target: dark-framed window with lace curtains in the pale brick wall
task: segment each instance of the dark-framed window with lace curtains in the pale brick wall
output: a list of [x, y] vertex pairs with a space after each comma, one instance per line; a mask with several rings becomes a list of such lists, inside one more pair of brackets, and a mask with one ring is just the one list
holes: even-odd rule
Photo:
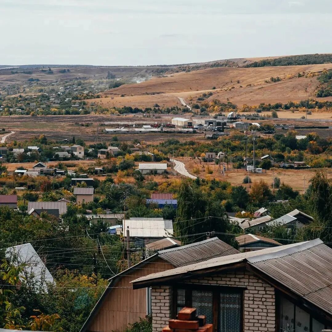
[[174, 290], [175, 315], [184, 306], [197, 309], [218, 332], [242, 331], [242, 294], [244, 288], [187, 285]]

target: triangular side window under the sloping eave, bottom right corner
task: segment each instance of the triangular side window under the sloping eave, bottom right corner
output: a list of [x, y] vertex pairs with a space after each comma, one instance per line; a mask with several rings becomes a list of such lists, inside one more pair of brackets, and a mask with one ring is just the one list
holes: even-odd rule
[[328, 326], [279, 295], [279, 332], [321, 332], [324, 328]]

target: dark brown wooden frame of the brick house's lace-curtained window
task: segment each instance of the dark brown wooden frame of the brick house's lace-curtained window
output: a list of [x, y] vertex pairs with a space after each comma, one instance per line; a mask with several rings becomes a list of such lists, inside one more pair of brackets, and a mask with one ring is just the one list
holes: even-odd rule
[[[177, 304], [177, 290], [185, 290], [185, 304], [179, 306]], [[246, 287], [231, 287], [231, 286], [219, 286], [219, 285], [198, 285], [198, 284], [176, 284], [173, 286], [173, 298], [172, 298], [172, 318], [176, 318], [177, 309], [180, 307], [192, 307], [192, 291], [193, 290], [206, 290], [212, 291], [212, 311], [213, 311], [213, 330], [219, 332], [220, 325], [220, 293], [239, 293], [240, 294], [240, 330], [244, 331], [244, 291]]]

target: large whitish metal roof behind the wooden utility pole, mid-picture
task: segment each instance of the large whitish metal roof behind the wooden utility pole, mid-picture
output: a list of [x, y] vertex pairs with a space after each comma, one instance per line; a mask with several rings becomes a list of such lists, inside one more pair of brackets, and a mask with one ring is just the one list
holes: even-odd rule
[[172, 220], [163, 218], [134, 218], [122, 221], [124, 237], [127, 236], [129, 227], [130, 237], [149, 238], [149, 237], [169, 237], [173, 235]]

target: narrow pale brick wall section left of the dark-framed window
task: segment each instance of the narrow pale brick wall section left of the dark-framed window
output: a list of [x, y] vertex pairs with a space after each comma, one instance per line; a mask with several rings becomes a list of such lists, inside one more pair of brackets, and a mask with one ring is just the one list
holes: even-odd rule
[[152, 331], [161, 331], [171, 318], [172, 295], [168, 286], [152, 288]]

